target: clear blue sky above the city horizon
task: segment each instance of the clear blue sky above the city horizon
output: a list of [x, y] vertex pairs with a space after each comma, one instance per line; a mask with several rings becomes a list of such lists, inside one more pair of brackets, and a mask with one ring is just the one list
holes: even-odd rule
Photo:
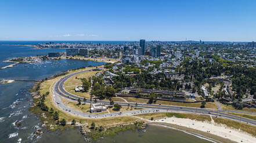
[[0, 0], [0, 40], [256, 41], [255, 0]]

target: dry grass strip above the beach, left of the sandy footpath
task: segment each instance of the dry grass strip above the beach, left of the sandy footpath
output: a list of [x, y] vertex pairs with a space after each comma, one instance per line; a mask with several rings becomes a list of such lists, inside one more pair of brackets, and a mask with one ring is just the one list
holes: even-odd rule
[[154, 112], [154, 113], [140, 114], [135, 116], [139, 116], [144, 119], [151, 119], [152, 117], [154, 119], [161, 119], [165, 117], [175, 116], [176, 118], [188, 118], [188, 119], [193, 119], [197, 121], [209, 121], [209, 122], [211, 121], [211, 117], [209, 115], [177, 113], [177, 112]]

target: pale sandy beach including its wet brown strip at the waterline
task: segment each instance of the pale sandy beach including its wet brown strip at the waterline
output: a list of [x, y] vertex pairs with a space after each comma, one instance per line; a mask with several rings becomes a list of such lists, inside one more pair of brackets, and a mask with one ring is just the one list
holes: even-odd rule
[[192, 134], [199, 134], [203, 137], [212, 138], [217, 142], [251, 142], [256, 138], [245, 131], [240, 131], [226, 125], [210, 122], [194, 121], [185, 118], [164, 118], [158, 121], [151, 121], [149, 125], [168, 126]]

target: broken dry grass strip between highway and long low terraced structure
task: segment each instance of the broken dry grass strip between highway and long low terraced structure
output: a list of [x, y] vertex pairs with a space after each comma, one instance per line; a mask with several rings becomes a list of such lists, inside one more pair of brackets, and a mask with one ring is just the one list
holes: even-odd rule
[[[137, 103], [147, 103], [149, 99], [141, 99], [141, 98], [135, 98], [135, 97], [122, 97], [126, 99], [128, 102], [137, 102]], [[183, 107], [197, 107], [200, 108], [201, 103], [182, 103], [182, 102], [173, 102], [173, 101], [161, 101], [157, 100], [156, 104], [164, 104], [164, 105], [171, 105], [171, 106], [183, 106]], [[205, 108], [212, 108], [217, 109], [218, 105], [215, 102], [207, 102], [205, 104]]]

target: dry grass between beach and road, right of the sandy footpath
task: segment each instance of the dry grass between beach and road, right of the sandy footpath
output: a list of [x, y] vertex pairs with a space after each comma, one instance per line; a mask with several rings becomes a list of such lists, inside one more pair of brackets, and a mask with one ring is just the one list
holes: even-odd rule
[[233, 121], [225, 118], [213, 118], [213, 119], [215, 123], [223, 124], [228, 127], [233, 127], [234, 129], [240, 129], [240, 130], [246, 131], [249, 134], [252, 134], [253, 136], [256, 136], [256, 129], [255, 129], [255, 126], [253, 125], [248, 125], [246, 123], [241, 123], [241, 122], [237, 122], [237, 121]]

